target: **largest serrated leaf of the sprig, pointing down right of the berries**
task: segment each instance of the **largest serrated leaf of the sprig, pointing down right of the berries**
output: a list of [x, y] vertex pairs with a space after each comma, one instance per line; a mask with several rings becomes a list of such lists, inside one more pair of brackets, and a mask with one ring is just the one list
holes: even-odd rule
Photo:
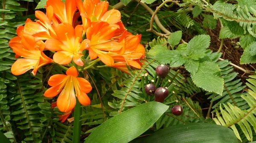
[[198, 71], [191, 75], [195, 85], [206, 91], [222, 95], [224, 79], [220, 77], [221, 71], [218, 64], [214, 62], [202, 62], [199, 64]]

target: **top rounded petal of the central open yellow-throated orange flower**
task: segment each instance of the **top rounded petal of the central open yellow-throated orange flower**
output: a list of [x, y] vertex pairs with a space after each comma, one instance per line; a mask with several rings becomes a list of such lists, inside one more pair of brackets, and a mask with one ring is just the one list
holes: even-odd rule
[[61, 23], [55, 28], [56, 35], [61, 42], [73, 39], [75, 30], [72, 25], [68, 23]]

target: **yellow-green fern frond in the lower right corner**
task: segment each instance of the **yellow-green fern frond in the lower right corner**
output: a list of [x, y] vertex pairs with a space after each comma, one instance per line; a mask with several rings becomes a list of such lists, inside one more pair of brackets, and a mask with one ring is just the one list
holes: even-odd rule
[[[215, 123], [222, 126], [227, 126], [233, 129], [236, 137], [241, 140], [239, 131], [236, 128], [236, 124], [241, 128], [245, 137], [249, 141], [253, 141], [253, 130], [256, 132], [256, 76], [250, 76], [252, 79], [248, 79], [247, 86], [250, 87], [246, 95], [241, 95], [241, 98], [247, 102], [249, 109], [240, 109], [239, 107], [233, 106], [230, 103], [220, 105], [220, 113], [217, 109], [216, 118], [213, 118]], [[224, 106], [225, 110], [222, 108]], [[252, 130], [253, 129], [253, 130]]]

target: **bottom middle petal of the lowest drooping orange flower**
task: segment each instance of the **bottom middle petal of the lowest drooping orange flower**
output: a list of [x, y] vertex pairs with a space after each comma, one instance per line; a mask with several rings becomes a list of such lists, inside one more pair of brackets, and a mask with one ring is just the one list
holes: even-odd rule
[[57, 107], [61, 112], [71, 111], [76, 106], [76, 95], [73, 88], [62, 90], [58, 96]]

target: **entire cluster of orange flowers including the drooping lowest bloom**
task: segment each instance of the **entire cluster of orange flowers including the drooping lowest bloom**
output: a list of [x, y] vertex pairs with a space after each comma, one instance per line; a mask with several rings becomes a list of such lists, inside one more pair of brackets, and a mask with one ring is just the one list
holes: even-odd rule
[[[121, 22], [118, 10], [108, 11], [108, 2], [99, 0], [48, 0], [46, 14], [35, 11], [36, 21], [26, 20], [17, 28], [17, 36], [9, 45], [18, 59], [11, 68], [14, 75], [33, 69], [32, 74], [49, 63], [67, 65], [72, 62], [84, 66], [83, 51], [88, 50], [91, 60], [99, 58], [109, 67], [128, 73], [126, 65], [141, 68], [140, 59], [145, 48], [140, 44], [141, 35], [132, 35]], [[81, 21], [79, 21], [81, 20]], [[54, 53], [50, 59], [44, 50]], [[92, 89], [90, 83], [77, 77], [75, 67], [67, 70], [67, 75], [51, 76], [46, 97], [60, 93], [57, 106], [62, 112], [71, 111], [76, 105], [76, 97], [83, 105], [89, 105], [86, 93]]]

